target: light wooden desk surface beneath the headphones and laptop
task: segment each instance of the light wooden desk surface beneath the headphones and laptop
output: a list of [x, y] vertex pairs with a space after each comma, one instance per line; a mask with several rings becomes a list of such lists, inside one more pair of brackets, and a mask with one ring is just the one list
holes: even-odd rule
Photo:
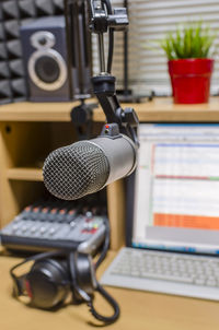
[[[115, 254], [110, 252], [100, 272]], [[0, 256], [0, 329], [2, 330], [88, 330], [99, 325], [88, 307], [67, 306], [56, 313], [26, 307], [11, 297], [9, 269], [19, 261], [14, 257]], [[99, 274], [100, 275], [100, 274]], [[218, 330], [219, 303], [152, 294], [122, 288], [107, 288], [120, 305], [119, 320], [107, 327], [114, 330]], [[96, 307], [104, 308], [96, 297]], [[110, 310], [104, 308], [104, 310]], [[92, 322], [92, 323], [91, 323]]]

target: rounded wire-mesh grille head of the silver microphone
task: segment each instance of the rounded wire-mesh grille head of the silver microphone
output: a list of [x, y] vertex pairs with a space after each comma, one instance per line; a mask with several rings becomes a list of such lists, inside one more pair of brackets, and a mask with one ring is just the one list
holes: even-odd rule
[[110, 164], [101, 148], [79, 141], [51, 152], [44, 163], [43, 175], [51, 195], [74, 200], [104, 187]]

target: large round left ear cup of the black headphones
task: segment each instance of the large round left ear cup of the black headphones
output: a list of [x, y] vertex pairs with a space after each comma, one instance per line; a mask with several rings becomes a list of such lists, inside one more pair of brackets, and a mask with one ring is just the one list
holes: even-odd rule
[[69, 293], [68, 271], [54, 259], [36, 261], [26, 275], [26, 282], [31, 303], [38, 308], [57, 307]]

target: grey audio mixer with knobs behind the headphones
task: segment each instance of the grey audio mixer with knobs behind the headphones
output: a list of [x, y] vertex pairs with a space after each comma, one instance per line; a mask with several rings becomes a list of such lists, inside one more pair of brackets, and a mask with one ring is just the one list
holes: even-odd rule
[[26, 207], [0, 232], [15, 250], [74, 249], [94, 254], [105, 237], [106, 212], [97, 207], [44, 202]]

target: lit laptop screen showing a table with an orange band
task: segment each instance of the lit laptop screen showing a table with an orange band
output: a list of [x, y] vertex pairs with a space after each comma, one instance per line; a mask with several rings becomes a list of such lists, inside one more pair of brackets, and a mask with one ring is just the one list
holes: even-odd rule
[[219, 125], [141, 123], [134, 247], [219, 254]]

